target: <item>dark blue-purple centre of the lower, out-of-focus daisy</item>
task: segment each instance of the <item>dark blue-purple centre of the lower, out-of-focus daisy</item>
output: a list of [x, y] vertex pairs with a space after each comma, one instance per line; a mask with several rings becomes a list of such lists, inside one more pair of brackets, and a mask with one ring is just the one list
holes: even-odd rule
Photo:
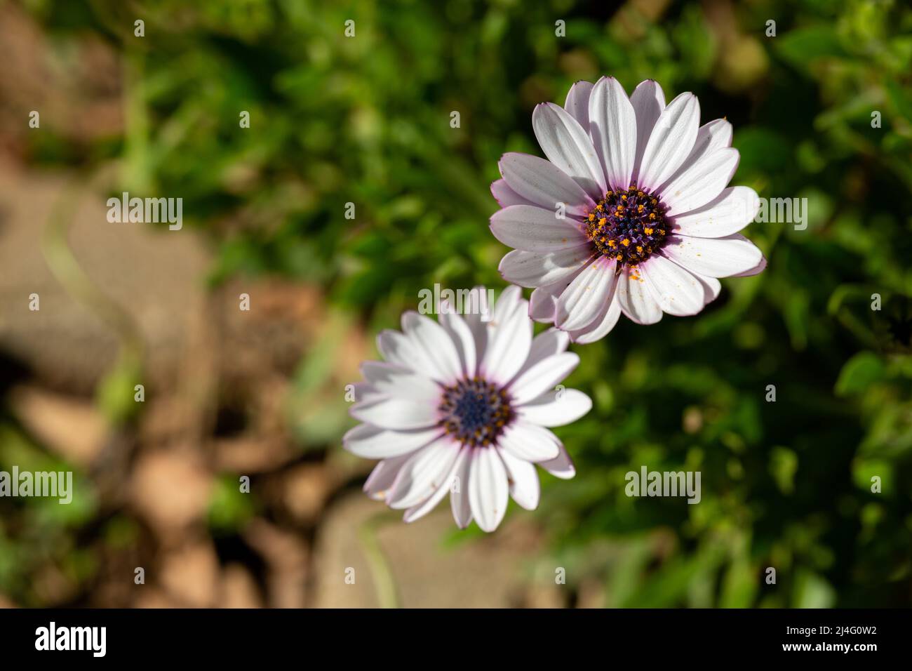
[[463, 445], [491, 445], [513, 419], [506, 390], [481, 378], [461, 380], [443, 388], [440, 425]]

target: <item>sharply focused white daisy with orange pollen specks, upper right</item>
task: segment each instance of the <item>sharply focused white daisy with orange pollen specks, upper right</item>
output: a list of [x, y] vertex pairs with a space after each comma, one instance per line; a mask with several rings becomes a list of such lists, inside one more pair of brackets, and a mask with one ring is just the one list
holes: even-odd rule
[[622, 312], [638, 324], [693, 315], [719, 295], [717, 278], [765, 267], [738, 234], [757, 194], [726, 188], [739, 160], [731, 123], [700, 126], [692, 93], [666, 106], [651, 79], [630, 98], [617, 79], [580, 81], [565, 107], [538, 105], [532, 125], [548, 160], [503, 155], [491, 230], [514, 248], [503, 278], [535, 288], [534, 320], [593, 342]]

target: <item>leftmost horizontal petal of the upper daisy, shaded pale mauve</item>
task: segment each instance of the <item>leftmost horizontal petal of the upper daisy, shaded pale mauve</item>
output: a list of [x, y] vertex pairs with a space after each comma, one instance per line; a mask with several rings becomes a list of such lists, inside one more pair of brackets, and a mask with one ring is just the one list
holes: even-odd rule
[[506, 246], [528, 252], [551, 252], [588, 242], [570, 219], [555, 219], [554, 212], [530, 205], [511, 205], [491, 217], [491, 232]]

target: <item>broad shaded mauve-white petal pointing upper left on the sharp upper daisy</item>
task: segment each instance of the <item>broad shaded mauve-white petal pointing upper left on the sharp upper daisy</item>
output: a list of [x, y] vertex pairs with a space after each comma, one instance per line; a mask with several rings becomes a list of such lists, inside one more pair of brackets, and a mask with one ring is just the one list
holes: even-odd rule
[[[554, 216], [559, 204], [566, 215], [584, 216], [596, 206], [579, 184], [554, 163], [527, 153], [505, 153], [499, 163], [501, 174], [514, 192], [525, 200], [550, 210]], [[556, 217], [555, 217], [556, 218]]]

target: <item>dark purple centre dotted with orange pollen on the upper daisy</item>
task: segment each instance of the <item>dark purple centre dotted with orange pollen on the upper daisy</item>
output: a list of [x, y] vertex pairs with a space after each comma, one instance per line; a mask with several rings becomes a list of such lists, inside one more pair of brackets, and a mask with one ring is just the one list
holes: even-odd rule
[[636, 266], [665, 244], [668, 210], [657, 196], [630, 184], [627, 191], [609, 191], [586, 215], [586, 236], [605, 257]]

